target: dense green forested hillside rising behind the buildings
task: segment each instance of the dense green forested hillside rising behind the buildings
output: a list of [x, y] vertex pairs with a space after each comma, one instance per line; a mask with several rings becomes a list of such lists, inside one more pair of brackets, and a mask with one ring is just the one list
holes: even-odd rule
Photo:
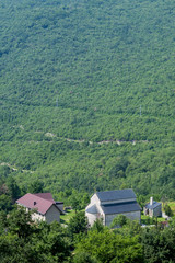
[[0, 176], [175, 198], [175, 2], [0, 2]]

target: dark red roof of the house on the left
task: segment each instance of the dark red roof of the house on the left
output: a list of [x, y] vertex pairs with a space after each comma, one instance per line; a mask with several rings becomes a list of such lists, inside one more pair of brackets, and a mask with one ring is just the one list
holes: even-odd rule
[[[55, 205], [55, 201], [50, 193], [39, 194], [25, 194], [16, 201], [19, 205], [25, 206], [31, 209], [37, 209], [38, 213], [45, 215], [46, 211]], [[57, 207], [58, 208], [58, 207]]]

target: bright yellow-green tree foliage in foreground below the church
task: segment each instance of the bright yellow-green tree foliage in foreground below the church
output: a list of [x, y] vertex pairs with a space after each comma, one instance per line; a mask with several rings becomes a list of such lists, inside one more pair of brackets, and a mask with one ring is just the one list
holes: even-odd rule
[[138, 237], [127, 238], [115, 235], [109, 229], [89, 231], [88, 237], [78, 243], [77, 253], [89, 252], [100, 262], [142, 262], [142, 247]]

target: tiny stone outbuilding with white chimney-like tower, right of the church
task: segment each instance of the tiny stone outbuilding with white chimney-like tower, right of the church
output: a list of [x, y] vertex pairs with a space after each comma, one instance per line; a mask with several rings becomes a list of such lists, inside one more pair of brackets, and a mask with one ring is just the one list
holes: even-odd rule
[[150, 197], [150, 203], [144, 206], [144, 215], [150, 217], [161, 217], [162, 216], [162, 204]]

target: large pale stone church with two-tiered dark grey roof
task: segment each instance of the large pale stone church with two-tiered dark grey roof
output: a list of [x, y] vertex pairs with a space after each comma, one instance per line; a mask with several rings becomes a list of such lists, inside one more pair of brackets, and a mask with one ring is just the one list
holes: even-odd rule
[[131, 188], [115, 190], [95, 193], [85, 208], [85, 215], [90, 226], [97, 218], [102, 218], [103, 225], [109, 226], [118, 215], [125, 215], [129, 219], [140, 222], [141, 208]]

